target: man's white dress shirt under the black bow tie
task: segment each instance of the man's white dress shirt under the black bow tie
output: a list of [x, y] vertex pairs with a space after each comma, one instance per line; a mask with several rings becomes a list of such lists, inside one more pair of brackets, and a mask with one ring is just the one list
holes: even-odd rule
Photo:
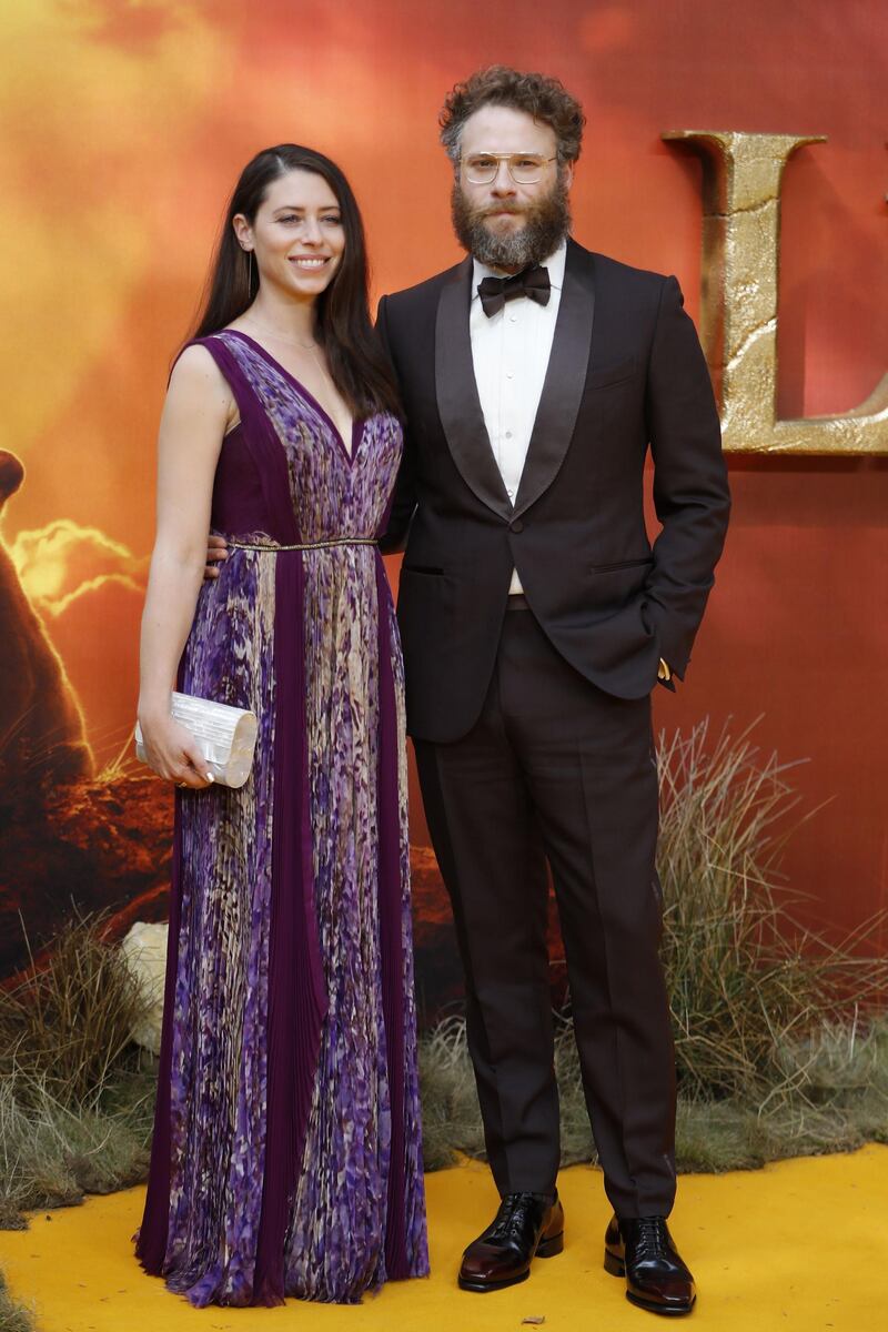
[[[502, 310], [490, 317], [483, 312], [478, 284], [485, 277], [503, 274], [474, 261], [469, 313], [471, 360], [490, 448], [513, 503], [525, 470], [527, 446], [549, 369], [566, 257], [567, 242], [563, 242], [546, 260], [545, 268], [549, 269], [551, 284], [549, 305], [538, 305], [521, 296], [507, 301]], [[511, 571], [509, 591], [522, 591], [515, 569]]]

